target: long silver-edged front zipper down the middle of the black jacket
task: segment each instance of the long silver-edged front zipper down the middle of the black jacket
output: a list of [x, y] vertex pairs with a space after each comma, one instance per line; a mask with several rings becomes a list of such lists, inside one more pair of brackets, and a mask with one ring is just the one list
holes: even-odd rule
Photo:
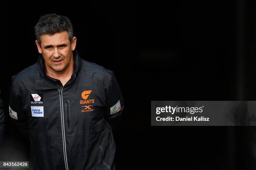
[[61, 109], [61, 131], [62, 131], [64, 162], [65, 162], [66, 170], [69, 170], [69, 167], [67, 164], [67, 150], [66, 150], [65, 125], [64, 125], [64, 113], [63, 113], [63, 98], [62, 98], [63, 88], [59, 88], [58, 90], [59, 90], [59, 101], [60, 101], [60, 109]]

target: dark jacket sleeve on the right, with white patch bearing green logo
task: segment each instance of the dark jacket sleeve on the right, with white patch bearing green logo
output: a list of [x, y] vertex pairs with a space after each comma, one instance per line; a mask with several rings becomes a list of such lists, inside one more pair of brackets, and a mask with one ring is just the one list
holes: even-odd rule
[[115, 78], [115, 74], [111, 71], [111, 81], [107, 92], [107, 114], [105, 120], [111, 128], [115, 128], [120, 120], [123, 112], [124, 101], [123, 95]]

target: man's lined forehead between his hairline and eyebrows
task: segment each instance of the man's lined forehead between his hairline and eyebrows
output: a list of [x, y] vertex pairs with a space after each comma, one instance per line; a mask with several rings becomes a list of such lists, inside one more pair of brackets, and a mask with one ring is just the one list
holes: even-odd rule
[[58, 32], [54, 35], [44, 34], [40, 36], [41, 45], [58, 45], [67, 43], [69, 41], [69, 35], [67, 31]]

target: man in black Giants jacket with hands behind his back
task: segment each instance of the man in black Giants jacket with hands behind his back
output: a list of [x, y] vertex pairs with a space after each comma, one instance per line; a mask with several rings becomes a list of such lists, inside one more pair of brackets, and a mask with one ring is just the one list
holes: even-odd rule
[[114, 170], [123, 96], [112, 71], [82, 60], [65, 16], [35, 26], [38, 62], [13, 76], [10, 116], [31, 142], [35, 170]]

